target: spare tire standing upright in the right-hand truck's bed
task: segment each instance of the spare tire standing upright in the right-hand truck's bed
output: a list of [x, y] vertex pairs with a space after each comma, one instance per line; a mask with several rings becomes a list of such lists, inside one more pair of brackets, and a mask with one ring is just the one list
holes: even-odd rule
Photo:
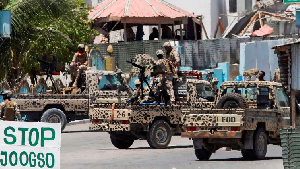
[[220, 98], [217, 103], [217, 109], [228, 109], [228, 108], [248, 108], [247, 100], [237, 93], [227, 93]]

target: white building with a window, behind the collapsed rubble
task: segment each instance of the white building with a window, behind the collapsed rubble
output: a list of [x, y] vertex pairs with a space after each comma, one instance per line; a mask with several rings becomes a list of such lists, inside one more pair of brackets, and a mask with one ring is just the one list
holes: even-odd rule
[[[209, 38], [213, 38], [218, 18], [226, 28], [234, 22], [237, 22], [247, 11], [253, 9], [257, 0], [166, 0], [167, 2], [178, 6], [187, 12], [203, 16], [203, 24]], [[262, 0], [269, 5], [273, 0]], [[219, 29], [220, 30], [220, 29]], [[205, 35], [202, 32], [202, 37]], [[221, 37], [218, 31], [217, 38]]]

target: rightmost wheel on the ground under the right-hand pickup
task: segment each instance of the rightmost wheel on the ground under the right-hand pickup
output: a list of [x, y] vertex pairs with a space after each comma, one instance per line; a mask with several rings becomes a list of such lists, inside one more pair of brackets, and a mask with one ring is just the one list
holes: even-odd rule
[[261, 160], [264, 159], [267, 154], [267, 135], [263, 128], [258, 128], [254, 132], [253, 137], [253, 149], [249, 150], [249, 153], [252, 154], [252, 159]]

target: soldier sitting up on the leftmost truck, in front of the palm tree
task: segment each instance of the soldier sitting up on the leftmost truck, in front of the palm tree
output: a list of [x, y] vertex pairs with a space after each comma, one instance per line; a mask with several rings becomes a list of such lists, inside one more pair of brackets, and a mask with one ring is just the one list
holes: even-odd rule
[[72, 82], [75, 81], [73, 87], [77, 87], [77, 81], [80, 75], [87, 69], [87, 64], [88, 64], [88, 55], [85, 52], [84, 44], [79, 44], [78, 52], [76, 52], [75, 55], [73, 56], [72, 63], [70, 65], [71, 80]]

